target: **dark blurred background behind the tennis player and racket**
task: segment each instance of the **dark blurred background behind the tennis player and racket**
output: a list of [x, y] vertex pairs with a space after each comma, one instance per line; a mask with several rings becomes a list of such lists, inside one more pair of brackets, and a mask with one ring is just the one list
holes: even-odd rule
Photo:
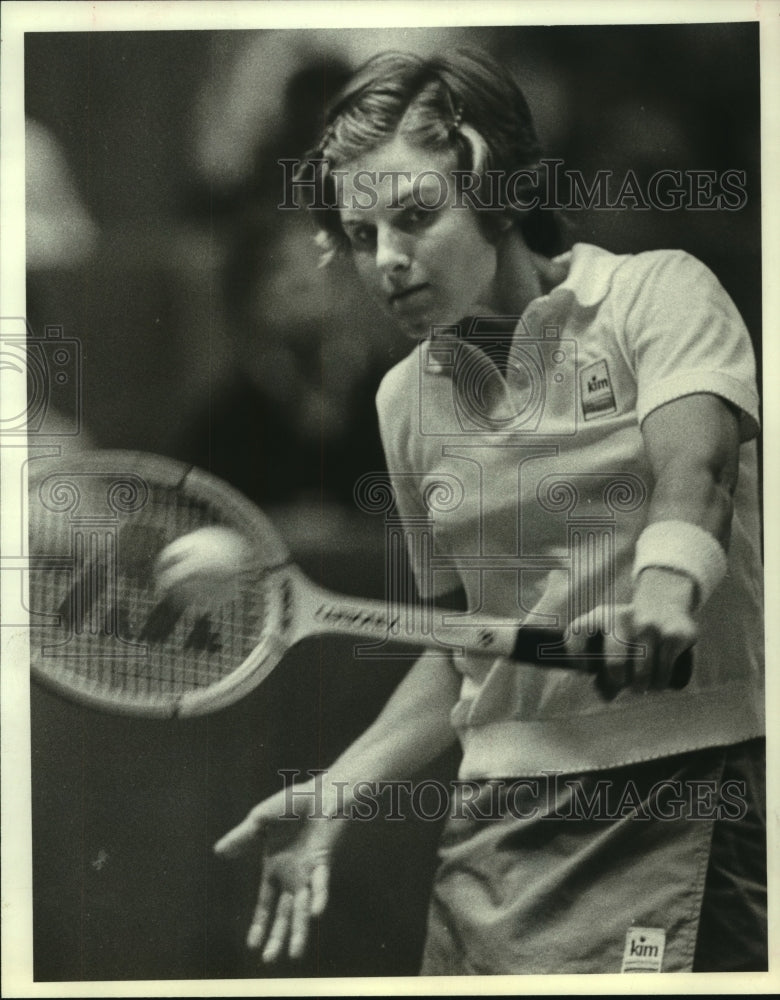
[[[698, 256], [758, 347], [757, 25], [25, 40], [26, 112], [48, 136], [42, 148], [28, 133], [40, 168], [35, 186], [28, 172], [28, 219], [37, 206], [44, 245], [47, 226], [68, 237], [64, 251], [28, 260], [28, 318], [81, 342], [79, 440], [211, 469], [269, 508], [307, 572], [369, 596], [382, 596], [385, 525], [357, 511], [352, 488], [382, 468], [373, 394], [405, 346], [347, 269], [316, 270], [305, 219], [274, 209], [275, 164], [303, 155], [356, 62], [456, 44], [485, 47], [517, 74], [545, 151], [586, 177], [746, 171], [738, 212], [570, 221], [576, 240], [616, 252]], [[89, 238], [68, 225], [77, 202]], [[268, 972], [243, 947], [257, 859], [210, 853], [280, 786], [279, 769], [327, 766], [407, 666], [358, 661], [349, 640], [310, 640], [240, 704], [175, 725], [106, 718], [34, 689], [35, 978], [414, 974], [436, 824], [354, 824], [309, 956]]]

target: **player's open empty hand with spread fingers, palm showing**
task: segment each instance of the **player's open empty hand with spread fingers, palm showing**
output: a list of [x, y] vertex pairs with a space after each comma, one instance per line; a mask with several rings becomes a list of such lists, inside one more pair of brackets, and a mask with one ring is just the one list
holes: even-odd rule
[[226, 858], [262, 848], [260, 891], [247, 946], [260, 950], [264, 962], [285, 952], [300, 958], [306, 950], [311, 921], [328, 903], [331, 856], [343, 827], [338, 819], [307, 816], [315, 801], [314, 782], [296, 786], [295, 801], [297, 817], [285, 811], [284, 791], [271, 796], [214, 846]]

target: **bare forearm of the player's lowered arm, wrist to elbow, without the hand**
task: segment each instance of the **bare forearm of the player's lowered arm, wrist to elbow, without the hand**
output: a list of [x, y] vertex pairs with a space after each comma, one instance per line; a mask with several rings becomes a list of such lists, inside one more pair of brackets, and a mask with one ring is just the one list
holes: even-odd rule
[[328, 769], [325, 811], [348, 806], [358, 782], [409, 778], [455, 742], [450, 711], [459, 690], [449, 657], [422, 656], [377, 720]]

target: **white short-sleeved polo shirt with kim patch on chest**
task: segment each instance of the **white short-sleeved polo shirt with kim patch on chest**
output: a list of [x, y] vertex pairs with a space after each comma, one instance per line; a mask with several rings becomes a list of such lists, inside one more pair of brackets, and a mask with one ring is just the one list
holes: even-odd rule
[[557, 261], [566, 278], [529, 304], [502, 370], [476, 346], [479, 325], [468, 340], [440, 330], [379, 388], [421, 592], [462, 585], [472, 624], [563, 630], [589, 608], [629, 602], [653, 491], [641, 422], [701, 392], [741, 413], [729, 572], [699, 615], [682, 691], [605, 703], [588, 675], [455, 657], [463, 778], [616, 767], [763, 732], [758, 397], [744, 323], [683, 252], [577, 244]]

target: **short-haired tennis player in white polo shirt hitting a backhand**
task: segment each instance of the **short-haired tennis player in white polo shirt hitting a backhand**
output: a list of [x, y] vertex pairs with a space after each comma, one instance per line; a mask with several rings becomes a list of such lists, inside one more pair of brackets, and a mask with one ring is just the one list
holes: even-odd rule
[[[384, 54], [332, 107], [312, 211], [415, 344], [377, 406], [424, 599], [562, 627], [603, 682], [425, 655], [325, 813], [460, 741], [422, 974], [765, 969], [750, 340], [686, 253], [567, 247], [540, 155], [487, 56]], [[216, 846], [263, 844], [266, 961], [306, 948], [347, 825], [295, 802]]]

